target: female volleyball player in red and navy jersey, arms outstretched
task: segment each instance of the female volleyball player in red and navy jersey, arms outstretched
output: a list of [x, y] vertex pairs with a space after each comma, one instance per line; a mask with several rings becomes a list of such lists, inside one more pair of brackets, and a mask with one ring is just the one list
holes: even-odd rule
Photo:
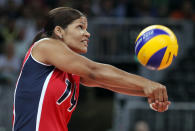
[[79, 83], [144, 96], [152, 109], [167, 110], [165, 86], [80, 55], [87, 52], [90, 37], [81, 12], [56, 8], [46, 21], [24, 58], [16, 84], [13, 131], [67, 131]]

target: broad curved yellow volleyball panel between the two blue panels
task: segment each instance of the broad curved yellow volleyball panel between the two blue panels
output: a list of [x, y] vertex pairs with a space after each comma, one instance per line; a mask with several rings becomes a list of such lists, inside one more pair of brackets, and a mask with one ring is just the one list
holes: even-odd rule
[[145, 44], [139, 51], [137, 58], [141, 64], [146, 65], [148, 60], [158, 52], [160, 49], [167, 47], [164, 39], [167, 39], [167, 35], [158, 35], [152, 39], [150, 39], [147, 44]]

